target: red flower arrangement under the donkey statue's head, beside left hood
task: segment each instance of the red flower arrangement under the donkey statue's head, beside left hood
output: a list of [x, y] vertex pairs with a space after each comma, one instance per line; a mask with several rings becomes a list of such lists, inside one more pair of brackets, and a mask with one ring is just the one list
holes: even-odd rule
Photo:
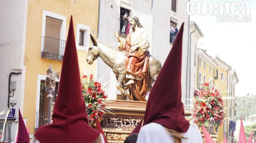
[[90, 74], [88, 77], [87, 75], [82, 77], [82, 92], [87, 115], [90, 123], [93, 123], [96, 119], [102, 119], [102, 116], [108, 111], [104, 103], [108, 96], [102, 90], [101, 83], [93, 80], [93, 74]]

